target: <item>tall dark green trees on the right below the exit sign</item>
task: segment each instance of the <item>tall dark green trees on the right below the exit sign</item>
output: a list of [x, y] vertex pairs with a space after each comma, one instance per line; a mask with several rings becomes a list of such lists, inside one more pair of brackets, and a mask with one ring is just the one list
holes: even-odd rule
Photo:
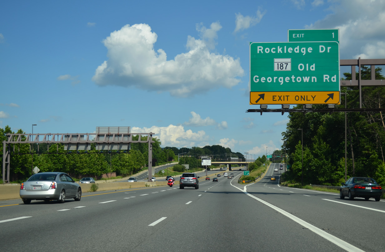
[[[370, 80], [370, 71], [361, 66], [361, 79]], [[381, 71], [382, 68], [375, 69], [376, 80], [385, 79]], [[352, 80], [351, 73], [343, 75], [342, 80]], [[358, 73], [356, 75], [358, 79]], [[346, 93], [347, 108], [359, 108], [358, 87], [342, 87], [341, 92]], [[384, 103], [384, 86], [362, 87], [362, 108], [383, 108]], [[326, 105], [313, 105], [313, 108], [326, 108]], [[336, 108], [345, 108], [344, 95]], [[381, 111], [346, 114], [347, 177], [372, 177], [385, 186], [384, 114]], [[304, 184], [339, 186], [340, 182], [345, 182], [345, 113], [289, 113], [289, 119], [282, 133], [282, 148], [289, 157], [288, 178], [301, 182], [303, 175]]]

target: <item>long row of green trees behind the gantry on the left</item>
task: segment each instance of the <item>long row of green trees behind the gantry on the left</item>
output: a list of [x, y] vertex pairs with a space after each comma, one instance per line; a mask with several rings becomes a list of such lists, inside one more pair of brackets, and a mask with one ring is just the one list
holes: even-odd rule
[[[14, 134], [10, 126], [0, 128], [0, 143], [6, 140], [6, 134]], [[19, 129], [17, 134], [24, 134]], [[147, 136], [142, 136], [146, 140]], [[138, 140], [139, 136], [133, 136], [133, 140]], [[25, 141], [25, 137], [21, 139]], [[243, 157], [241, 153], [234, 153], [230, 148], [213, 145], [192, 147], [192, 148], [161, 148], [161, 141], [157, 138], [152, 139], [152, 166], [166, 164], [167, 162], [178, 162], [179, 164], [189, 164], [190, 168], [201, 167], [200, 156], [207, 155], [217, 158], [221, 157]], [[10, 181], [25, 181], [32, 175], [32, 167], [37, 166], [40, 172], [60, 171], [66, 172], [74, 178], [81, 177], [100, 177], [102, 174], [116, 172], [119, 176], [129, 176], [146, 169], [148, 166], [148, 144], [132, 143], [128, 153], [117, 151], [104, 151], [100, 153], [95, 149], [95, 144], [91, 144], [91, 149], [87, 152], [70, 152], [64, 150], [64, 144], [11, 144], [10, 154]], [[13, 151], [15, 147], [15, 151]], [[30, 154], [30, 153], [33, 153]], [[59, 153], [59, 154], [58, 154]], [[67, 153], [67, 154], [62, 154]], [[32, 158], [33, 156], [33, 158]], [[3, 144], [0, 146], [0, 164], [3, 162]], [[0, 169], [2, 177], [2, 169]]]

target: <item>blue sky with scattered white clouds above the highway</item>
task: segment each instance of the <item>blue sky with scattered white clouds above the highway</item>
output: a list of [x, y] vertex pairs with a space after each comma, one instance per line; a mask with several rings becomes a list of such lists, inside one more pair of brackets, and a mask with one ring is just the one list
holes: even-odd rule
[[2, 2], [0, 127], [131, 126], [162, 147], [261, 156], [280, 149], [288, 118], [245, 113], [259, 108], [249, 43], [338, 28], [341, 59], [385, 58], [384, 27], [383, 0]]

